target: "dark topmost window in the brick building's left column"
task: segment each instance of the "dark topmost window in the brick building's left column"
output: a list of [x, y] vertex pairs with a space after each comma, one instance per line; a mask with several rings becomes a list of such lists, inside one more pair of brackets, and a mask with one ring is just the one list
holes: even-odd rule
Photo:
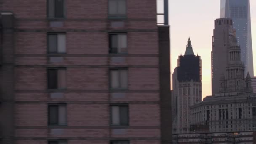
[[48, 18], [65, 17], [65, 0], [48, 0]]

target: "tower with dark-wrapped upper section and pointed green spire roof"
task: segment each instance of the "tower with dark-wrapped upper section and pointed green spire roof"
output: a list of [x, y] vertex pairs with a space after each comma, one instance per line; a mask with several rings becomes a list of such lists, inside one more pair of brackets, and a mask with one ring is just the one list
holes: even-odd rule
[[173, 72], [173, 133], [188, 133], [189, 107], [202, 101], [202, 72], [200, 56], [195, 56], [190, 38], [184, 56], [179, 56]]

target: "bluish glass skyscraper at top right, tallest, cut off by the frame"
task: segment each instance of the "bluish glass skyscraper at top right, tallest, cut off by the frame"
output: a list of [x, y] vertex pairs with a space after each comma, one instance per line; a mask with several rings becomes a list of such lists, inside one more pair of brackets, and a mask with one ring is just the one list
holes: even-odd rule
[[241, 59], [247, 72], [253, 76], [253, 51], [251, 39], [250, 0], [221, 0], [221, 18], [232, 18], [237, 43], [241, 47]]

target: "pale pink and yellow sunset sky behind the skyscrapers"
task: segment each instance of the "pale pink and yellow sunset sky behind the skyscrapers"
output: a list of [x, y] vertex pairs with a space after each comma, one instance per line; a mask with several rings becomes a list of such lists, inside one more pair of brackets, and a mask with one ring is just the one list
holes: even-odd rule
[[[253, 64], [256, 72], [256, 0], [251, 3]], [[195, 55], [202, 59], [202, 97], [211, 95], [211, 50], [214, 20], [220, 15], [220, 0], [169, 0], [171, 26], [171, 73], [184, 55], [188, 37]], [[251, 75], [252, 76], [252, 75]]]

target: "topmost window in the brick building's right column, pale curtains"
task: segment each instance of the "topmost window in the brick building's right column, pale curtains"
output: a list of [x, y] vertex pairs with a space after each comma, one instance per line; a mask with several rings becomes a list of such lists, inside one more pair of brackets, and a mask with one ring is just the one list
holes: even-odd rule
[[109, 17], [125, 18], [126, 0], [109, 0]]

